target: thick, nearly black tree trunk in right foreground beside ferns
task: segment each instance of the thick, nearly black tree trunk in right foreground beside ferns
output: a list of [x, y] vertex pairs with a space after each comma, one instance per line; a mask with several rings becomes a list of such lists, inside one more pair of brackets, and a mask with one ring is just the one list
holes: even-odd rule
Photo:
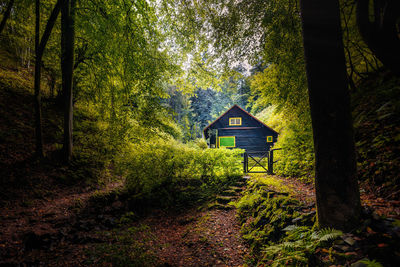
[[301, 17], [321, 227], [348, 230], [361, 205], [338, 0], [302, 0]]

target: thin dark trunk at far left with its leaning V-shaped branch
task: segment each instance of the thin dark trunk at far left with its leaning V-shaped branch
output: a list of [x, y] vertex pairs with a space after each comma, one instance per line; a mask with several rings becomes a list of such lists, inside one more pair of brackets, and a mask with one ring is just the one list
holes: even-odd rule
[[[42, 133], [42, 108], [41, 108], [41, 96], [40, 96], [40, 78], [41, 78], [41, 66], [42, 56], [44, 48], [46, 47], [47, 41], [50, 38], [51, 31], [53, 30], [54, 24], [57, 20], [58, 14], [60, 13], [62, 0], [58, 0], [50, 14], [49, 20], [47, 21], [46, 28], [43, 36], [39, 39], [40, 35], [40, 0], [36, 0], [35, 14], [36, 14], [36, 25], [35, 25], [35, 138], [36, 138], [36, 156], [43, 158], [43, 133]], [[40, 40], [40, 42], [39, 42]]]

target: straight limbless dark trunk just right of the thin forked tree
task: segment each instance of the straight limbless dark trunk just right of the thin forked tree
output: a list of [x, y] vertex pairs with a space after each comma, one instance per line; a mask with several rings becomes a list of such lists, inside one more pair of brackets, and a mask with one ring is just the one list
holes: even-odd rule
[[64, 97], [63, 158], [69, 163], [72, 157], [72, 86], [74, 71], [75, 0], [66, 0], [61, 8], [61, 69]]

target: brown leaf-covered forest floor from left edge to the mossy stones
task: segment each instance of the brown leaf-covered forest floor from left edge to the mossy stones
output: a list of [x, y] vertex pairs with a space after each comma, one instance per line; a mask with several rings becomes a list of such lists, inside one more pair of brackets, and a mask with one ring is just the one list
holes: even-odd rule
[[[0, 212], [0, 265], [241, 266], [234, 209], [149, 209], [119, 200], [121, 184], [54, 193]], [[75, 188], [76, 190], [76, 188]], [[233, 196], [232, 199], [235, 197]]]

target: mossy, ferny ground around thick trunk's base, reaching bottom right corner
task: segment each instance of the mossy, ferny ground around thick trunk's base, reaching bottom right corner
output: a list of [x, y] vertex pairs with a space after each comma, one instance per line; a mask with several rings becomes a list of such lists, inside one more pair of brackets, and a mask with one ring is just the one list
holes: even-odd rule
[[365, 266], [397, 266], [398, 221], [366, 212], [352, 233], [319, 229], [315, 206], [296, 186], [257, 175], [234, 203], [242, 237], [250, 246], [250, 266], [350, 266], [362, 260], [370, 264]]

